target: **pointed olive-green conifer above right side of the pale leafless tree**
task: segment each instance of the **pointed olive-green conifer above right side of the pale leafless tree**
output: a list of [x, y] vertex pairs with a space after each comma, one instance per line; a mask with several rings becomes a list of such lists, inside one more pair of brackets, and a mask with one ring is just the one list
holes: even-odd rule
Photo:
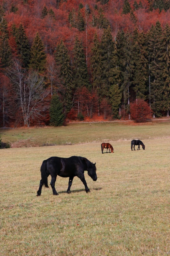
[[29, 67], [42, 73], [45, 70], [46, 54], [44, 51], [44, 44], [40, 38], [39, 33], [36, 33], [33, 45], [31, 47], [31, 59]]

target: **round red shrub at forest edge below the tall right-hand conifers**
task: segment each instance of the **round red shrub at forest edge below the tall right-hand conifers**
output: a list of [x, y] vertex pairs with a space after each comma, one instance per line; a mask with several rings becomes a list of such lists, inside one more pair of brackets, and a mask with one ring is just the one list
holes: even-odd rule
[[131, 118], [137, 123], [146, 122], [152, 115], [149, 104], [143, 99], [137, 99], [137, 102], [131, 103], [130, 112]]

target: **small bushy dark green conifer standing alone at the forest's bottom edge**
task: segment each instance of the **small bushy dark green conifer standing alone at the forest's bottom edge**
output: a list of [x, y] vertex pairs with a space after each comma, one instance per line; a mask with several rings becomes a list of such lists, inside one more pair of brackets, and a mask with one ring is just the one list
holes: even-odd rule
[[57, 94], [53, 94], [50, 103], [50, 125], [62, 126], [64, 122], [63, 106]]

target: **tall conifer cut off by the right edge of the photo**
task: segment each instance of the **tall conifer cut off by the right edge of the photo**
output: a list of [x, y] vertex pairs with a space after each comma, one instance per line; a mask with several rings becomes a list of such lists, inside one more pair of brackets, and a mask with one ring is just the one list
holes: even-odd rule
[[163, 101], [161, 109], [167, 111], [167, 117], [169, 117], [170, 110], [170, 27], [165, 25], [163, 31]]

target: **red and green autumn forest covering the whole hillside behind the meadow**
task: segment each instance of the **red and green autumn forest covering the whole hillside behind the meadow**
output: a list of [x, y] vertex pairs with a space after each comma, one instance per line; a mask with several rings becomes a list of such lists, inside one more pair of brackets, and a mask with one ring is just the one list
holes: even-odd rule
[[0, 0], [0, 126], [169, 117], [170, 0]]

